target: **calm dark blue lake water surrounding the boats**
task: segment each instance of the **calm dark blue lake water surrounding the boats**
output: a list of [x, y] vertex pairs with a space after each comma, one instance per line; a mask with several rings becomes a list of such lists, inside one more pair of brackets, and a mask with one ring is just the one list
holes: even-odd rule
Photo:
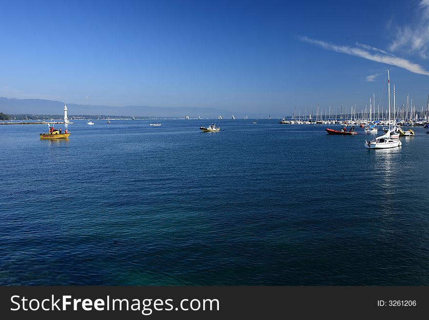
[[210, 121], [0, 126], [0, 284], [429, 285], [426, 129]]

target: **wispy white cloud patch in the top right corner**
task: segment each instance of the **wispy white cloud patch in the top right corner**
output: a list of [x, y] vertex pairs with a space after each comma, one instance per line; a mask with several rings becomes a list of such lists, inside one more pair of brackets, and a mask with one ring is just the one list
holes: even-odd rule
[[391, 51], [417, 53], [426, 59], [429, 50], [429, 0], [420, 1], [411, 24], [398, 27], [394, 32], [395, 38], [390, 44]]

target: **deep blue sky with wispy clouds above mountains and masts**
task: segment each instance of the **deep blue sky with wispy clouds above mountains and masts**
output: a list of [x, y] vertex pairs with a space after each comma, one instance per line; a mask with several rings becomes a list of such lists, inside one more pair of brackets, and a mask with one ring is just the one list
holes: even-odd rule
[[282, 117], [383, 104], [390, 69], [427, 104], [429, 0], [0, 4], [4, 97]]

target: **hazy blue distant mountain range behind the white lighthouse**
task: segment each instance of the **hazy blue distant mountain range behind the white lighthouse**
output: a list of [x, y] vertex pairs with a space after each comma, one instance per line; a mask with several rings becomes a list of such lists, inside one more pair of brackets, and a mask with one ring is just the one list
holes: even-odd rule
[[[0, 112], [7, 114], [63, 114], [64, 102], [43, 99], [14, 99], [0, 97]], [[69, 115], [122, 115], [137, 117], [185, 117], [201, 116], [231, 118], [231, 111], [215, 108], [158, 108], [150, 106], [97, 106], [67, 103]], [[240, 117], [241, 118], [241, 117]]]

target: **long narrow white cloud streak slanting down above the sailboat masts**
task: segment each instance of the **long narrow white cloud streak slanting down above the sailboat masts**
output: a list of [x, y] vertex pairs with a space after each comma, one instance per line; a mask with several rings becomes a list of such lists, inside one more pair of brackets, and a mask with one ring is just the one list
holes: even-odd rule
[[429, 72], [426, 71], [420, 65], [413, 63], [407, 59], [397, 57], [397, 56], [390, 56], [390, 55], [383, 54], [383, 53], [372, 53], [372, 52], [365, 50], [363, 48], [350, 47], [350, 46], [344, 46], [344, 45], [336, 45], [336, 44], [331, 44], [331, 43], [328, 43], [328, 42], [325, 42], [322, 40], [316, 40], [316, 39], [311, 39], [311, 38], [307, 38], [307, 37], [299, 37], [299, 39], [301, 41], [304, 41], [304, 42], [315, 44], [315, 45], [317, 45], [317, 46], [319, 46], [325, 50], [331, 50], [331, 51], [344, 53], [344, 54], [352, 55], [352, 56], [360, 56], [361, 58], [368, 59], [371, 61], [386, 63], [386, 64], [390, 64], [390, 65], [397, 66], [400, 68], [404, 68], [404, 69], [406, 69], [410, 72], [416, 73], [416, 74], [429, 75]]

